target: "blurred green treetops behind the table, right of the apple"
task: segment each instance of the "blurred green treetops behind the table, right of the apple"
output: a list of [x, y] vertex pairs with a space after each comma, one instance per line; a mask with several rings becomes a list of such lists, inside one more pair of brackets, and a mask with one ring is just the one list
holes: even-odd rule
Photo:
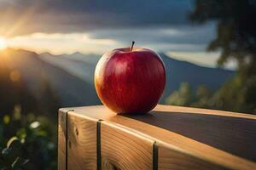
[[[252, 84], [251, 86], [255, 86]], [[199, 86], [192, 93], [188, 82], [182, 82], [177, 91], [166, 98], [166, 105], [183, 105], [224, 111], [255, 113], [255, 103], [247, 103], [247, 96], [252, 88], [243, 86], [240, 77], [234, 77], [222, 88], [212, 92], [205, 86]], [[253, 87], [255, 88], [255, 87]]]

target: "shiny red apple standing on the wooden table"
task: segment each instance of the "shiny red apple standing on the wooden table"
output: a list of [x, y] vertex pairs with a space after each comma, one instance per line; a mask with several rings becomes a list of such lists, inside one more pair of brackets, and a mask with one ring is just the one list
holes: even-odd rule
[[95, 86], [102, 103], [122, 114], [154, 109], [166, 84], [160, 56], [146, 48], [118, 48], [102, 56], [96, 65]]

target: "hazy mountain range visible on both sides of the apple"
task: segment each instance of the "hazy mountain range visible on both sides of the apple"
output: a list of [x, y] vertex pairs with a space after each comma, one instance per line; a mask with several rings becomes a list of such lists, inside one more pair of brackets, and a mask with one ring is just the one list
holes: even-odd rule
[[[8, 51], [9, 65], [20, 71], [34, 94], [40, 91], [42, 80], [47, 79], [51, 88], [61, 98], [63, 106], [100, 104], [94, 88], [94, 70], [101, 56], [80, 53], [36, 54], [15, 49]], [[192, 88], [203, 84], [208, 88], [217, 89], [234, 75], [234, 71], [194, 65], [172, 59], [164, 53], [160, 53], [160, 56], [166, 65], [166, 88], [160, 103], [163, 103], [166, 96], [172, 94], [181, 82], [189, 82]]]

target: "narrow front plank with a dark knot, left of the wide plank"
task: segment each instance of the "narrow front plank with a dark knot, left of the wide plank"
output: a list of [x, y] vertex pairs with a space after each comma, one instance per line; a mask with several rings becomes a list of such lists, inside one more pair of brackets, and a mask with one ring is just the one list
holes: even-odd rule
[[97, 120], [70, 111], [67, 127], [67, 169], [97, 169]]

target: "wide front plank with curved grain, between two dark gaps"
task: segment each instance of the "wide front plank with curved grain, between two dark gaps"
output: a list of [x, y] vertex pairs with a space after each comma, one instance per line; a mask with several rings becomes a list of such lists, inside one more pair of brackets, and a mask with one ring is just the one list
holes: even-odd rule
[[112, 122], [101, 123], [102, 169], [151, 170], [154, 140]]

